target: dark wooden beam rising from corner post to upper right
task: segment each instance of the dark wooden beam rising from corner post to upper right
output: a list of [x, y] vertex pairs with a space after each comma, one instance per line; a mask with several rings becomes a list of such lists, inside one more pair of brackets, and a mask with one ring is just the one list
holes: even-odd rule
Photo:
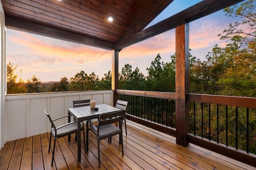
[[182, 12], [179, 12], [163, 21], [152, 25], [130, 37], [123, 39], [116, 43], [115, 49], [123, 49], [145, 39], [154, 37], [166, 31], [176, 28], [185, 22], [191, 22], [222, 10], [226, 7], [232, 6], [244, 0], [203, 0]]

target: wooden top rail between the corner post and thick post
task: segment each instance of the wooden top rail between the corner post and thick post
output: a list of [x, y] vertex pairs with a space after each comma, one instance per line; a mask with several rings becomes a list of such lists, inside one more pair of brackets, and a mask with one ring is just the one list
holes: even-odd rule
[[142, 96], [151, 98], [163, 98], [163, 99], [176, 99], [175, 93], [171, 92], [152, 92], [152, 91], [139, 91], [139, 90], [116, 90], [117, 94]]

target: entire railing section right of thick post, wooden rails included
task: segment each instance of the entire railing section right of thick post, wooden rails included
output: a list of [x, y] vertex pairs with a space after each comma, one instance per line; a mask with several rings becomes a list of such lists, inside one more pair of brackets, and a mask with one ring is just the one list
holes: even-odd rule
[[256, 98], [187, 94], [188, 141], [236, 160], [256, 161]]

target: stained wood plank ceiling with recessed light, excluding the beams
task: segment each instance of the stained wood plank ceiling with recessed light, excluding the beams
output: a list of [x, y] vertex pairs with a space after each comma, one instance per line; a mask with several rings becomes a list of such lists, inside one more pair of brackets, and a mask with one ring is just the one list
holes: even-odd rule
[[[51, 30], [60, 34], [62, 32], [58, 30], [63, 30], [86, 37], [89, 44], [97, 40], [99, 46], [111, 46], [142, 31], [172, 1], [2, 0], [2, 5], [9, 27], [19, 27], [10, 23], [15, 22], [27, 30], [33, 27], [34, 31]], [[114, 21], [106, 19], [109, 15], [114, 16]]]

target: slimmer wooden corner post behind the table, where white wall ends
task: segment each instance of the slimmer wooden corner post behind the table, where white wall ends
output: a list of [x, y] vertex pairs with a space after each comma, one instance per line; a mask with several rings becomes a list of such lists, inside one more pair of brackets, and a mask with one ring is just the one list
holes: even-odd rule
[[112, 90], [114, 90], [114, 105], [118, 100], [118, 94], [116, 94], [116, 90], [118, 90], [119, 86], [119, 78], [118, 78], [118, 50], [112, 50]]

